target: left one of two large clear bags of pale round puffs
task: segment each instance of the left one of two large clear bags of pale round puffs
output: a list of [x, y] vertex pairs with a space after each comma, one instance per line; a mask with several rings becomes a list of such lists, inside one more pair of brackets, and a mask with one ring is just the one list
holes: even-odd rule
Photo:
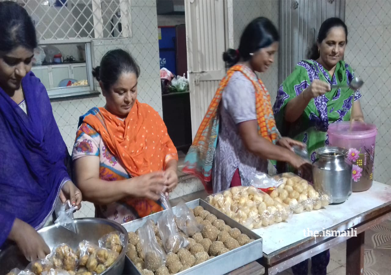
[[208, 198], [210, 205], [249, 229], [279, 223], [292, 215], [282, 201], [273, 200], [254, 186], [232, 187]]

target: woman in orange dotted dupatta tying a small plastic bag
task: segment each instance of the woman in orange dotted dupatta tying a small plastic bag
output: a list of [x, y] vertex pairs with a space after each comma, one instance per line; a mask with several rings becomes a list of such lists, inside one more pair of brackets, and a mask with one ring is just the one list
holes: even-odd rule
[[161, 192], [178, 184], [178, 154], [159, 114], [137, 101], [136, 62], [124, 50], [107, 52], [94, 69], [104, 108], [80, 117], [72, 159], [83, 198], [95, 216], [118, 223], [163, 210]]

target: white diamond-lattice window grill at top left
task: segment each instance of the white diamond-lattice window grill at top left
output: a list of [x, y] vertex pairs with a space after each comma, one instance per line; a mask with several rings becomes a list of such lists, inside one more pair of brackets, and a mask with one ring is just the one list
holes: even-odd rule
[[17, 0], [32, 16], [39, 43], [131, 37], [129, 0]]

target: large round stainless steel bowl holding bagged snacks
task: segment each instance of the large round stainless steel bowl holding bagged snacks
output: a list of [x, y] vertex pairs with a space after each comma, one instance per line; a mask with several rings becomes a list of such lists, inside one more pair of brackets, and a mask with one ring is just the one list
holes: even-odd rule
[[[124, 248], [114, 264], [102, 274], [122, 274], [124, 271], [126, 247], [128, 243], [127, 231], [124, 226], [108, 219], [99, 218], [75, 219], [75, 226], [76, 234], [62, 226], [56, 225], [41, 228], [38, 230], [38, 233], [45, 240], [50, 250], [61, 243], [66, 243], [76, 251], [81, 241], [87, 240], [98, 244], [100, 237], [117, 230], [125, 235]], [[9, 244], [0, 251], [0, 274], [7, 274], [13, 268], [23, 270], [28, 263], [29, 262], [27, 262], [22, 252], [20, 252], [18, 247], [14, 244]]]

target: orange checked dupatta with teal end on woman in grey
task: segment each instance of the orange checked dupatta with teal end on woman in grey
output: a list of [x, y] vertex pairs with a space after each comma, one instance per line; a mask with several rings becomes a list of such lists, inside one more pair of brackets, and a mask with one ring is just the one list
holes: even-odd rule
[[[258, 121], [258, 133], [270, 142], [276, 143], [279, 133], [274, 120], [270, 94], [264, 83], [256, 77], [256, 74], [244, 65], [231, 67], [226, 76], [221, 80], [208, 111], [198, 128], [192, 146], [185, 157], [183, 172], [194, 174], [203, 183], [206, 191], [213, 192], [212, 165], [217, 146], [219, 133], [219, 105], [224, 88], [234, 72], [241, 72], [246, 76], [255, 88], [256, 117]], [[240, 92], [240, 91], [238, 91]]]

